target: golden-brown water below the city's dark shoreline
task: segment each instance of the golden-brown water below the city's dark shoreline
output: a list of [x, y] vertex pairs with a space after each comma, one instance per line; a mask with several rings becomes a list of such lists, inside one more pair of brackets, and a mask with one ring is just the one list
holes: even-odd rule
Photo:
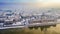
[[7, 29], [7, 30], [0, 30], [0, 34], [60, 34], [60, 24], [57, 24], [56, 27], [51, 26], [47, 28], [47, 30], [41, 31], [40, 28], [38, 29]]

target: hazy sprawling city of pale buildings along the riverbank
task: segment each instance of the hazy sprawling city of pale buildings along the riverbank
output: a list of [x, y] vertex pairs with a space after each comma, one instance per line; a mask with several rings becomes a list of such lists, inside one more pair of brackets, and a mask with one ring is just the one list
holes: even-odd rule
[[34, 9], [31, 9], [29, 11], [0, 10], [0, 29], [53, 26], [59, 24], [60, 9], [58, 8], [37, 9], [36, 12], [34, 12]]

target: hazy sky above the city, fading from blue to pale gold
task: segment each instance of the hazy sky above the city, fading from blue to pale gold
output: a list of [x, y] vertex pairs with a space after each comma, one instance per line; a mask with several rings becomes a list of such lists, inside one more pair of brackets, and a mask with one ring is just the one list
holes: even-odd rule
[[19, 8], [20, 3], [36, 7], [60, 7], [60, 0], [0, 0], [0, 8]]

